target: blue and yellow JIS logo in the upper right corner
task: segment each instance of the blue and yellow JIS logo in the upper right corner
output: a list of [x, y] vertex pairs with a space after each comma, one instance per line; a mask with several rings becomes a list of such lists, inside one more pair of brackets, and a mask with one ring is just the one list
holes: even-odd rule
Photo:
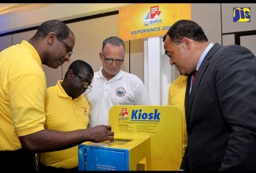
[[250, 7], [233, 8], [233, 22], [250, 22]]

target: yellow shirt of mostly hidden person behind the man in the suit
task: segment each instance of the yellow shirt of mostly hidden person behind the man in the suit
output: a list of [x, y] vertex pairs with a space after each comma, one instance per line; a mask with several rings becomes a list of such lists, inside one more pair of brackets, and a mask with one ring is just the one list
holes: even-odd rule
[[183, 122], [183, 154], [187, 149], [187, 124], [185, 117], [185, 94], [187, 86], [187, 75], [180, 75], [177, 79], [173, 80], [173, 83], [169, 86], [169, 98], [168, 105], [175, 105], [180, 108], [182, 113]]

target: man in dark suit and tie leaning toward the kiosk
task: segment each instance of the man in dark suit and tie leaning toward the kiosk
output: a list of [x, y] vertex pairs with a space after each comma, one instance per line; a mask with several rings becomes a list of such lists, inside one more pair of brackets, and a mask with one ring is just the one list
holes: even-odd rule
[[170, 64], [188, 75], [187, 150], [180, 169], [255, 171], [255, 55], [243, 46], [208, 42], [191, 20], [177, 21], [163, 41]]

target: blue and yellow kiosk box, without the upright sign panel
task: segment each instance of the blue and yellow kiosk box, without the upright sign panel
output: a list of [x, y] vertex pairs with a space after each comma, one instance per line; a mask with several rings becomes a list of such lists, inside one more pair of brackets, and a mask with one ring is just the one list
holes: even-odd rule
[[113, 142], [79, 146], [79, 171], [150, 171], [150, 136], [116, 134]]

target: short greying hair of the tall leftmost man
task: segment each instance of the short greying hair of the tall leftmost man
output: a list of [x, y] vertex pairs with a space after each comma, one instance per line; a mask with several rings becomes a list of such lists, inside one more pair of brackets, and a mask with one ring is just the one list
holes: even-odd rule
[[48, 20], [39, 26], [32, 39], [44, 39], [50, 32], [55, 32], [58, 36], [61, 37], [61, 39], [68, 38], [69, 33], [74, 35], [64, 22], [60, 20]]

